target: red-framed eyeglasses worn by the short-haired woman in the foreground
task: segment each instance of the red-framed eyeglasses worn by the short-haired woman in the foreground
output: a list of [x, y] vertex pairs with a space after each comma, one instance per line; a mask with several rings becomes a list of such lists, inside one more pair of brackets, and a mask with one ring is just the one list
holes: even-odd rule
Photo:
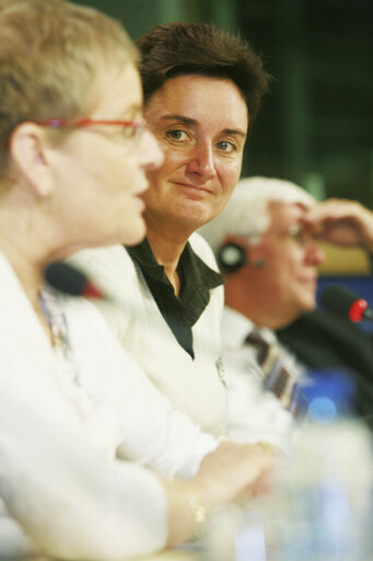
[[112, 121], [112, 119], [94, 119], [94, 118], [80, 118], [77, 121], [68, 121], [66, 118], [49, 118], [46, 121], [36, 122], [37, 125], [42, 127], [51, 127], [51, 128], [62, 128], [62, 127], [71, 127], [71, 128], [83, 128], [90, 126], [117, 126], [121, 127], [123, 137], [124, 138], [140, 138], [144, 128], [147, 126], [147, 122], [144, 118], [139, 118], [135, 121]]

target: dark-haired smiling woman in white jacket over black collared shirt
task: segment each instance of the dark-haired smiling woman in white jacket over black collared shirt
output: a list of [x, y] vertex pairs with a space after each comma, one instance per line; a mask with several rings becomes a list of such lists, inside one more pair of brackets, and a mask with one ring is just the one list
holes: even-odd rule
[[145, 240], [74, 256], [120, 306], [98, 302], [123, 346], [206, 432], [225, 434], [220, 359], [223, 279], [197, 228], [241, 172], [268, 76], [241, 37], [210, 24], [160, 25], [138, 39], [144, 115], [164, 152], [147, 174]]

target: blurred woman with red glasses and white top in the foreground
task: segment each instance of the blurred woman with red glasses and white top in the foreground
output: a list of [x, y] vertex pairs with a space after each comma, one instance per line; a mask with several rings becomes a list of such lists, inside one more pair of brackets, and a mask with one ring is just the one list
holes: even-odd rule
[[0, 557], [109, 561], [186, 540], [270, 455], [212, 451], [89, 302], [43, 286], [49, 262], [144, 234], [139, 195], [162, 153], [137, 51], [112, 19], [60, 0], [1, 1], [0, 45]]

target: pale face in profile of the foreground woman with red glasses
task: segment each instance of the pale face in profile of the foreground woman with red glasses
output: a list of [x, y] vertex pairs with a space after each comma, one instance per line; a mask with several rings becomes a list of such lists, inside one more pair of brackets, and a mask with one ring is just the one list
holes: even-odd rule
[[[139, 119], [142, 90], [138, 70], [128, 64], [108, 68], [97, 80], [98, 103], [91, 119]], [[58, 219], [73, 249], [138, 243], [144, 236], [145, 172], [162, 163], [154, 137], [140, 138], [119, 125], [75, 128], [55, 149]]]

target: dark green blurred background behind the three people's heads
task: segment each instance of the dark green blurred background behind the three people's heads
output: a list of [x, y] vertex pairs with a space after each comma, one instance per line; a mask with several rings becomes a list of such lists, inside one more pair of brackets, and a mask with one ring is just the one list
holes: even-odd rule
[[159, 23], [241, 33], [272, 75], [243, 175], [289, 179], [318, 199], [373, 207], [373, 0], [79, 0], [132, 38]]

